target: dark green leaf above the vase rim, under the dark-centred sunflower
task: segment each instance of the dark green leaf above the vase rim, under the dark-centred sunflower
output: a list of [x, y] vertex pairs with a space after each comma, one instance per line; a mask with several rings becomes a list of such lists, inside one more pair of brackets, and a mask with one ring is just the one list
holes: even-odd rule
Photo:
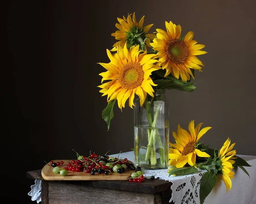
[[157, 84], [157, 89], [176, 89], [180, 91], [193, 92], [195, 83], [180, 81], [177, 79], [157, 79], [154, 81]]

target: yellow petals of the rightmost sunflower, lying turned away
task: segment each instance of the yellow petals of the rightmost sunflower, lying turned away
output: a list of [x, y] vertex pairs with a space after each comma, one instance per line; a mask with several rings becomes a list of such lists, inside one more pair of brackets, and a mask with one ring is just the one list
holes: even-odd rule
[[[219, 175], [221, 179], [224, 181], [227, 192], [232, 187], [232, 182], [230, 178], [234, 178], [234, 172], [232, 169], [234, 168], [232, 165], [235, 163], [234, 157], [236, 155], [236, 150], [232, 150], [236, 143], [230, 145], [230, 139], [227, 138], [224, 145], [218, 152], [218, 157], [221, 159], [221, 166], [222, 170], [220, 171]], [[232, 150], [232, 151], [231, 151]]]

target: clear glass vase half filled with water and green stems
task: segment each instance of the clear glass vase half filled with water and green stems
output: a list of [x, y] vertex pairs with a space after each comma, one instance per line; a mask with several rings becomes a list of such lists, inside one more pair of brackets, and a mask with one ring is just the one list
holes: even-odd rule
[[169, 161], [169, 101], [165, 89], [154, 90], [140, 106], [134, 100], [134, 161], [144, 169], [165, 169]]

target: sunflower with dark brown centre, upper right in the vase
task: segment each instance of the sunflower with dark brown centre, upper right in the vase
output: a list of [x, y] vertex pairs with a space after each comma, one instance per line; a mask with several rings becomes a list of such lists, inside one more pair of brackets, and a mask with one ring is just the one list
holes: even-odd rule
[[171, 73], [177, 79], [181, 77], [183, 81], [190, 80], [190, 76], [194, 78], [191, 69], [201, 71], [201, 66], [204, 66], [204, 63], [195, 55], [206, 54], [207, 52], [201, 50], [205, 46], [196, 44], [197, 41], [192, 40], [194, 37], [192, 31], [186, 34], [184, 40], [181, 40], [181, 26], [176, 26], [172, 21], [165, 22], [165, 24], [167, 32], [156, 29], [157, 38], [150, 43], [152, 49], [158, 51], [158, 64], [162, 66], [162, 69], [166, 69], [165, 77]]

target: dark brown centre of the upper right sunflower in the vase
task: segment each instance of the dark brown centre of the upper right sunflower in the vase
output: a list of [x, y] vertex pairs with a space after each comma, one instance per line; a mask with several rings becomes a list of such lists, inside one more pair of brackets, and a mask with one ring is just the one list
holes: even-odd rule
[[189, 49], [182, 40], [175, 38], [167, 42], [166, 53], [176, 64], [183, 64], [189, 57]]

